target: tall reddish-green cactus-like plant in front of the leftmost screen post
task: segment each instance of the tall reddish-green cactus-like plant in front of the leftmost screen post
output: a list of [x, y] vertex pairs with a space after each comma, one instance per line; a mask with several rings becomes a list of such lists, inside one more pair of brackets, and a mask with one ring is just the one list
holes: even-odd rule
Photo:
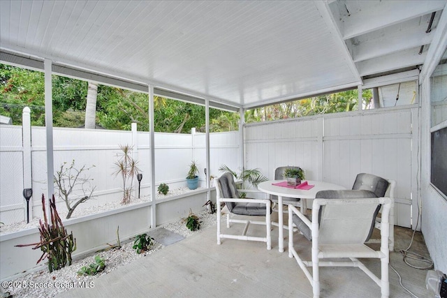
[[59, 270], [65, 267], [67, 262], [68, 266], [71, 265], [71, 253], [76, 250], [76, 239], [73, 238], [73, 232], [67, 234], [64, 224], [62, 223], [59, 214], [57, 214], [54, 195], [52, 200], [50, 200], [51, 224], [48, 223], [45, 211], [45, 196], [43, 194], [42, 210], [45, 223], [43, 223], [42, 220], [39, 220], [41, 241], [34, 244], [20, 244], [16, 246], [34, 246], [33, 249], [41, 248], [43, 253], [36, 264], [47, 258], [48, 269], [52, 272], [53, 270]]

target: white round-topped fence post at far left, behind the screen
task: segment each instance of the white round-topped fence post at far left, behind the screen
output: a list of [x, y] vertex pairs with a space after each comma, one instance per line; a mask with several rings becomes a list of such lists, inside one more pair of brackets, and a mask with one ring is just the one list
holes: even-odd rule
[[[23, 144], [23, 189], [32, 188], [32, 163], [31, 163], [31, 110], [29, 107], [24, 107], [22, 112], [22, 144]], [[23, 214], [25, 221], [27, 220], [27, 200], [23, 198]], [[29, 204], [29, 218], [33, 218], [34, 200], [31, 197], [31, 204]]]

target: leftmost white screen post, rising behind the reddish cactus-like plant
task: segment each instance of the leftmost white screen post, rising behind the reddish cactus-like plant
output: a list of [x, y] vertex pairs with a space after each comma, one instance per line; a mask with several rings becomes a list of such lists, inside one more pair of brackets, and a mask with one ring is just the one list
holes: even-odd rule
[[47, 135], [47, 216], [50, 218], [50, 200], [54, 194], [54, 156], [53, 156], [53, 104], [51, 84], [52, 61], [45, 59], [45, 131]]

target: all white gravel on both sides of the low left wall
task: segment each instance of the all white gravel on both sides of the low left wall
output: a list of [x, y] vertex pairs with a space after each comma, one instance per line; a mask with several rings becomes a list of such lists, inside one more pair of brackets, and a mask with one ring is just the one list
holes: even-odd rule
[[[163, 200], [163, 198], [169, 198], [173, 195], [181, 195], [188, 192], [191, 191], [187, 187], [177, 188], [170, 190], [167, 195], [157, 194], [156, 200]], [[147, 202], [149, 201], [149, 198], [149, 196], [146, 196], [141, 199], [133, 199], [132, 202], [130, 204], [127, 204], [126, 206]], [[119, 207], [123, 207], [121, 202], [109, 202], [101, 206], [89, 208], [82, 208], [82, 206], [80, 205], [73, 212], [71, 218], [77, 218], [89, 214], [96, 214], [103, 211], [117, 209]], [[65, 218], [66, 214], [67, 211], [59, 211], [59, 216], [61, 218]], [[217, 223], [216, 214], [210, 214], [206, 209], [200, 211], [200, 213], [196, 215], [200, 218], [200, 230], [208, 228], [212, 225], [216, 225]], [[1, 225], [0, 233], [3, 234], [17, 232], [20, 230], [27, 230], [29, 228], [38, 227], [38, 225], [39, 219], [33, 218], [29, 223], [22, 221], [20, 223], [13, 223], [11, 225]], [[185, 238], [200, 232], [200, 230], [192, 232], [191, 230], [186, 228], [186, 225], [182, 219], [162, 226], [167, 230], [176, 232], [177, 234], [181, 234]], [[76, 237], [76, 235], [74, 236]], [[164, 247], [163, 245], [155, 242], [149, 251], [139, 255], [132, 248], [132, 246], [133, 241], [130, 241], [129, 243], [122, 244], [122, 248], [120, 249], [109, 249], [108, 251], [101, 251], [95, 253], [94, 255], [90, 255], [87, 258], [73, 260], [71, 266], [53, 271], [52, 273], [50, 273], [50, 271], [48, 271], [48, 269], [46, 268], [45, 270], [29, 273], [25, 276], [21, 276], [19, 278], [15, 278], [12, 281], [6, 282], [9, 283], [9, 285], [14, 286], [4, 287], [2, 283], [1, 290], [3, 292], [9, 292], [10, 295], [13, 295], [13, 297], [54, 297], [60, 292], [70, 290], [71, 288], [78, 286], [79, 283], [85, 282], [88, 284], [89, 282], [94, 282], [95, 278], [103, 276], [104, 274], [108, 274], [109, 272], [112, 272], [115, 269], [126, 264], [129, 264], [130, 262], [138, 260], [139, 258], [150, 256], [155, 251], [158, 251], [159, 249]], [[83, 266], [88, 266], [89, 264], [94, 262], [95, 255], [100, 255], [101, 258], [105, 259], [104, 271], [98, 273], [96, 276], [78, 276], [77, 272]], [[43, 288], [43, 285], [51, 285], [51, 288]]]

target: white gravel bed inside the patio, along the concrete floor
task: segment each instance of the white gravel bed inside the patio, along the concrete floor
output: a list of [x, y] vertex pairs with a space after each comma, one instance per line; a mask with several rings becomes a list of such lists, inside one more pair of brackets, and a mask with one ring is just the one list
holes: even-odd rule
[[[163, 225], [163, 228], [181, 234], [184, 237], [189, 237], [217, 223], [217, 216], [215, 213], [209, 214], [207, 210], [203, 210], [196, 215], [201, 221], [200, 230], [198, 231], [192, 232], [188, 230], [182, 219]], [[94, 262], [95, 255], [91, 255], [81, 260], [73, 260], [71, 266], [53, 271], [52, 273], [45, 268], [45, 270], [36, 271], [20, 278], [16, 278], [13, 281], [8, 281], [6, 282], [6, 285], [10, 285], [8, 287], [4, 287], [2, 283], [1, 290], [3, 292], [9, 292], [10, 295], [13, 295], [14, 297], [54, 297], [58, 293], [78, 287], [80, 283], [83, 283], [84, 286], [94, 285], [95, 278], [108, 274], [109, 272], [138, 260], [139, 258], [150, 257], [152, 253], [164, 247], [155, 242], [149, 251], [138, 255], [132, 246], [133, 241], [130, 241], [129, 243], [122, 245], [122, 248], [120, 249], [110, 249], [108, 251], [96, 253], [95, 255], [100, 255], [101, 258], [105, 259], [104, 271], [98, 273], [96, 276], [78, 276], [77, 274], [77, 271], [80, 270], [82, 266], [88, 266]], [[50, 285], [50, 287], [43, 288], [44, 285]], [[1, 297], [3, 297], [3, 295]]]

